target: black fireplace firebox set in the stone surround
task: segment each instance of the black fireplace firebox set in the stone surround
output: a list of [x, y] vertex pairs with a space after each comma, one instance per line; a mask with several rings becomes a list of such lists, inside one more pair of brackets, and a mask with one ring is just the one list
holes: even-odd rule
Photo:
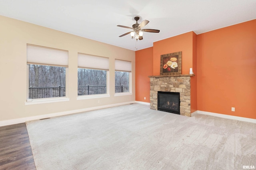
[[180, 115], [180, 93], [158, 92], [158, 110]]

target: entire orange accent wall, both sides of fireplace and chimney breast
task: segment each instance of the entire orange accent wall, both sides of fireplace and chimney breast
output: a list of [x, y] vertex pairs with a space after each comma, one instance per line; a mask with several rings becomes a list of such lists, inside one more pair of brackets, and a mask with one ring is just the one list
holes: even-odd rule
[[256, 119], [255, 30], [256, 20], [252, 20], [200, 35], [184, 33], [136, 51], [136, 100], [150, 102], [147, 76], [160, 75], [160, 56], [182, 51], [182, 74], [193, 68], [196, 75], [191, 77], [191, 113], [200, 110]]

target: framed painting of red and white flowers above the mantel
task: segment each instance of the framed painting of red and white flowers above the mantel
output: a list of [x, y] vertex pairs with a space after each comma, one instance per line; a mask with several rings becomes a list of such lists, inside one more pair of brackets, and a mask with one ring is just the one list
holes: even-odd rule
[[182, 51], [161, 55], [160, 75], [181, 74]]

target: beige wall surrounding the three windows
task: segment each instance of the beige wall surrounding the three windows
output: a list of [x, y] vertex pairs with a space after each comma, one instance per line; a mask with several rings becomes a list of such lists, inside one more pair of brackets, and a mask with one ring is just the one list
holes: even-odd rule
[[[26, 45], [68, 51], [68, 102], [26, 105]], [[77, 53], [109, 57], [110, 97], [77, 98]], [[114, 97], [114, 59], [132, 62], [132, 95]], [[135, 100], [135, 52], [24, 21], [0, 16], [0, 121], [72, 111]], [[100, 100], [100, 103], [98, 103]]]

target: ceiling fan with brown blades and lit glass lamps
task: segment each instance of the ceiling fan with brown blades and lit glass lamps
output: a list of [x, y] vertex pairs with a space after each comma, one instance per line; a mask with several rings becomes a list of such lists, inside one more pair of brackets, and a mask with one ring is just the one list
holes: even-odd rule
[[143, 37], [142, 37], [143, 31], [144, 32], [150, 32], [150, 33], [159, 33], [160, 32], [160, 30], [158, 30], [158, 29], [142, 29], [142, 27], [147, 25], [149, 23], [149, 21], [144, 20], [141, 23], [138, 23], [139, 19], [140, 19], [140, 17], [134, 17], [134, 20], [136, 21], [136, 23], [133, 24], [132, 27], [126, 27], [126, 26], [123, 26], [123, 25], [116, 25], [118, 27], [129, 28], [129, 29], [133, 30], [133, 31], [130, 31], [128, 33], [124, 33], [123, 35], [120, 35], [119, 37], [123, 37], [124, 35], [130, 34], [132, 39], [135, 38], [136, 41], [138, 41], [138, 39], [139, 40], [143, 39]]

